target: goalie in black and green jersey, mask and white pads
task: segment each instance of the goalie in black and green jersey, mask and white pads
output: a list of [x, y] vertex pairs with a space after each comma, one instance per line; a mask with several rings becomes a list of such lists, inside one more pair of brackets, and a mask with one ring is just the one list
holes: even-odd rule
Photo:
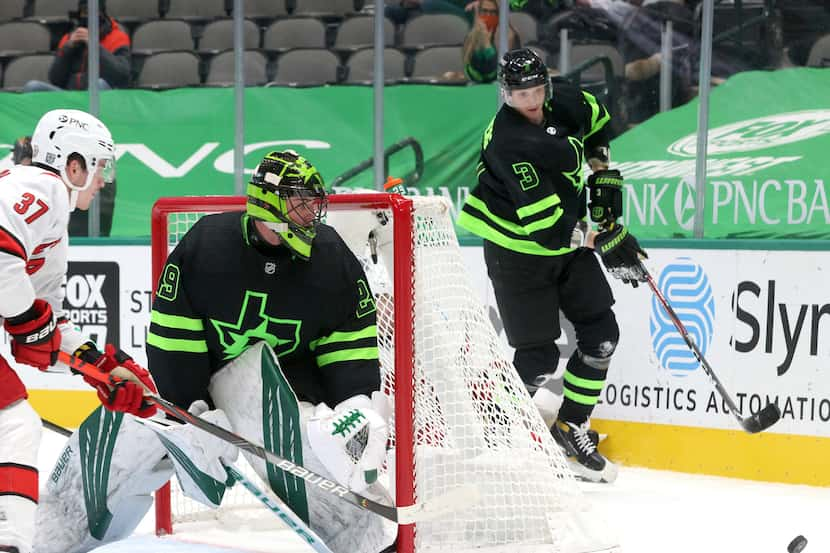
[[[376, 305], [326, 193], [291, 151], [257, 167], [244, 212], [200, 219], [171, 252], [147, 337], [159, 394], [277, 455], [384, 500], [389, 407], [378, 392]], [[218, 506], [237, 451], [172, 421], [98, 410], [69, 440], [38, 510], [36, 553], [82, 553], [128, 536], [174, 472]], [[335, 553], [391, 551], [396, 528], [249, 462]]]

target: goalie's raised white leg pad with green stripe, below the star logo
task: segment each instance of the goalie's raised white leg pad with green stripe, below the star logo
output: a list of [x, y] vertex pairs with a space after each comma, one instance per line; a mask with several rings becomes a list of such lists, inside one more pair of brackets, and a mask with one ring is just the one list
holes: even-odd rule
[[[209, 391], [234, 432], [261, 440], [277, 455], [334, 479], [308, 442], [305, 427], [314, 406], [297, 401], [267, 344], [258, 343], [223, 367], [213, 376]], [[302, 471], [286, 474], [259, 457], [243, 454], [259, 477], [334, 553], [380, 551], [394, 540], [394, 524], [307, 484], [297, 476]], [[308, 482], [313, 480], [308, 477]]]

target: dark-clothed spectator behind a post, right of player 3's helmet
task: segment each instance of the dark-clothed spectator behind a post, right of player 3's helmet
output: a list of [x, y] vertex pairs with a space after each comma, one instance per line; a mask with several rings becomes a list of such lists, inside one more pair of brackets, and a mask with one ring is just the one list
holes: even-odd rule
[[692, 58], [698, 42], [693, 39], [693, 14], [683, 0], [645, 0], [625, 20], [620, 33], [620, 53], [627, 80], [627, 113], [630, 124], [645, 121], [660, 110], [661, 30], [673, 21], [671, 106], [694, 96]]

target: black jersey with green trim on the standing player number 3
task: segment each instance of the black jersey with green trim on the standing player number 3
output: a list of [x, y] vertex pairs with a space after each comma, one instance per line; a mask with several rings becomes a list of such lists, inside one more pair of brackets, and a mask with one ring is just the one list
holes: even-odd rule
[[554, 81], [534, 125], [503, 105], [484, 132], [478, 184], [458, 224], [519, 253], [553, 256], [573, 251], [571, 233], [586, 216], [584, 152], [608, 146], [608, 110], [590, 93]]

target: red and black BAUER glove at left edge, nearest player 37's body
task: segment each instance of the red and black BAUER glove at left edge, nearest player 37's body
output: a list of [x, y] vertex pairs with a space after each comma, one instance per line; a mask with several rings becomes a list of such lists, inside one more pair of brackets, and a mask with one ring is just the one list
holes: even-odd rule
[[32, 306], [4, 323], [12, 337], [12, 355], [18, 363], [25, 363], [45, 371], [58, 360], [61, 331], [45, 300], [35, 300]]

